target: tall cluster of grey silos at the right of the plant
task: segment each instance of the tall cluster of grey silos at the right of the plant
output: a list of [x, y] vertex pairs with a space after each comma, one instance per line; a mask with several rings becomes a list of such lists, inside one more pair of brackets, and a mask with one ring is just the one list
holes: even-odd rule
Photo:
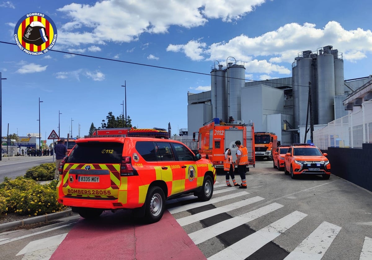
[[332, 48], [318, 48], [317, 53], [303, 51], [292, 64], [295, 128], [306, 125], [309, 85], [313, 123], [327, 124], [334, 120], [334, 97], [344, 94], [344, 66], [342, 53]]

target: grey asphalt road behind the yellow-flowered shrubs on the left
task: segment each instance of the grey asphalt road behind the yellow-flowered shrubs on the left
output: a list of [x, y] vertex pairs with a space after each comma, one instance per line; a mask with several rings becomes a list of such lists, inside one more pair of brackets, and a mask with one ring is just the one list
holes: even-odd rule
[[26, 170], [47, 162], [53, 162], [53, 156], [3, 157], [0, 161], [0, 181], [3, 181], [4, 177], [14, 179], [17, 176], [23, 176]]

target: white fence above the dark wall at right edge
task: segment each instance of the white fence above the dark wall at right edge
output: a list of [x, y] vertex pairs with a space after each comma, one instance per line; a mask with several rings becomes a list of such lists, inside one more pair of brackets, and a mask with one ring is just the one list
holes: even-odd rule
[[326, 127], [313, 132], [314, 144], [320, 149], [328, 147], [362, 148], [372, 143], [372, 100], [365, 101], [353, 112], [336, 119]]

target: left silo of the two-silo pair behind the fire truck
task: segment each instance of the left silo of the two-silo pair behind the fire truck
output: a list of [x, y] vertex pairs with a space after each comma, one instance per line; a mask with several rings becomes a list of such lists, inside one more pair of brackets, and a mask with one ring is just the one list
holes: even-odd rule
[[222, 65], [212, 66], [211, 71], [212, 118], [221, 118], [227, 122], [226, 69]]

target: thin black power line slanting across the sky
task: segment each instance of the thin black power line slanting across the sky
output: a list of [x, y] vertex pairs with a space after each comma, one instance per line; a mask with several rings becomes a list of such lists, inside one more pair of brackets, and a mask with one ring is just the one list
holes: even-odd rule
[[[0, 43], [10, 44], [10, 45], [17, 45], [16, 43], [3, 42], [3, 41], [0, 41]], [[77, 55], [77, 56], [83, 56], [83, 57], [87, 57], [87, 58], [102, 59], [102, 60], [105, 60], [105, 61], [115, 61], [115, 62], [122, 62], [122, 63], [133, 64], [133, 65], [147, 66], [147, 67], [151, 67], [151, 68], [168, 69], [168, 70], [172, 70], [172, 71], [180, 71], [180, 72], [187, 72], [187, 73], [193, 73], [193, 74], [199, 74], [199, 75], [206, 75], [206, 76], [209, 76], [209, 77], [211, 76], [211, 74], [202, 73], [202, 72], [186, 71], [184, 69], [174, 69], [174, 68], [148, 65], [148, 64], [131, 62], [131, 61], [121, 61], [121, 60], [118, 60], [118, 59], [103, 58], [103, 57], [97, 57], [97, 56], [92, 56], [92, 55], [85, 55], [85, 54], [81, 54], [81, 53], [64, 52], [64, 51], [57, 51], [57, 50], [49, 50], [49, 51], [66, 53], [66, 54]], [[220, 75], [215, 75], [215, 76], [222, 77], [222, 78], [230, 78], [230, 79], [241, 79], [241, 78], [234, 78], [234, 77], [224, 77], [224, 76], [220, 76]], [[259, 81], [259, 80], [254, 80], [254, 79], [244, 79], [244, 80], [253, 81], [253, 82], [267, 83], [267, 81]], [[276, 83], [276, 82], [270, 82], [270, 84], [284, 85], [284, 84]], [[291, 86], [308, 87], [308, 86], [304, 86], [304, 85], [293, 85], [293, 84], [291, 84]]]

